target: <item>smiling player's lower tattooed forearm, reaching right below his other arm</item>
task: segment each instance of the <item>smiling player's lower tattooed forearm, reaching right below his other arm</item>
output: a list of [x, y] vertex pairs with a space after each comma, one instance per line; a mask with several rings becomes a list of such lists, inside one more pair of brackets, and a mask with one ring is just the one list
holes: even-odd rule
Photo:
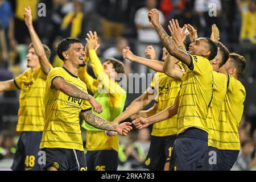
[[112, 123], [106, 121], [105, 119], [102, 119], [98, 115], [93, 114], [92, 110], [82, 113], [82, 117], [89, 125], [97, 127], [97, 129], [115, 131], [115, 129], [117, 128], [116, 123]]

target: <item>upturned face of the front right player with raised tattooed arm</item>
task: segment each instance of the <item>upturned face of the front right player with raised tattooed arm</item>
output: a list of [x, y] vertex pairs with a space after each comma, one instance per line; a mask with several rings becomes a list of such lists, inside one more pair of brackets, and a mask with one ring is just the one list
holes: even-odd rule
[[193, 42], [189, 45], [188, 53], [190, 55], [202, 56], [203, 53], [208, 50], [206, 41], [207, 40], [204, 38], [196, 39], [195, 42]]

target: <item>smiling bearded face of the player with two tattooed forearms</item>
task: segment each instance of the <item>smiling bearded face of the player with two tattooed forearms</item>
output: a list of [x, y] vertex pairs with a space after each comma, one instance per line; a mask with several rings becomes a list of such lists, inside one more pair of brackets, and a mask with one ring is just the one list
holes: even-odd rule
[[78, 67], [84, 67], [85, 61], [85, 51], [84, 46], [81, 43], [74, 43], [71, 47], [66, 51], [68, 60], [72, 62], [73, 65]]

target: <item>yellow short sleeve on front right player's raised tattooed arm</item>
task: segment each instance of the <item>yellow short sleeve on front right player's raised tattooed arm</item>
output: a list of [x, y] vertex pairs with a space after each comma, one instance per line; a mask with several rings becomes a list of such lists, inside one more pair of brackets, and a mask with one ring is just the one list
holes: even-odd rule
[[189, 67], [189, 69], [191, 69], [193, 72], [195, 72], [198, 75], [204, 75], [204, 73], [212, 71], [212, 65], [210, 65], [208, 59], [201, 56], [190, 56], [191, 66]]

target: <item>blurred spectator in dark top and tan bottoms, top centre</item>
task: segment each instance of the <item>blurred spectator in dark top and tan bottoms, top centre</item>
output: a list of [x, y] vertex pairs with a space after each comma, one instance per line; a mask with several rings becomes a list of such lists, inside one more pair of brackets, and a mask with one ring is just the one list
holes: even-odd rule
[[100, 0], [99, 4], [104, 41], [122, 36], [129, 18], [129, 0]]

